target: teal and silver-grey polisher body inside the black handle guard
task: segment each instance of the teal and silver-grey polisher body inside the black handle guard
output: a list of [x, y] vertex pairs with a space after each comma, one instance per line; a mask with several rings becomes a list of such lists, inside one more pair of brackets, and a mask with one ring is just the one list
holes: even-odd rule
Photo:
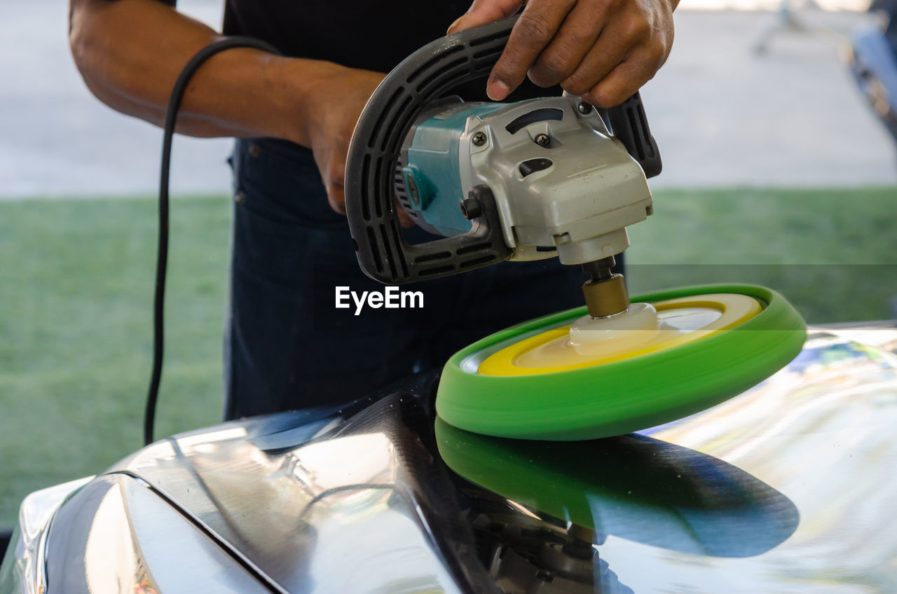
[[573, 97], [447, 102], [408, 133], [396, 170], [399, 203], [445, 236], [470, 231], [459, 205], [487, 185], [510, 259], [614, 256], [629, 247], [625, 228], [652, 210], [639, 163], [597, 109]]

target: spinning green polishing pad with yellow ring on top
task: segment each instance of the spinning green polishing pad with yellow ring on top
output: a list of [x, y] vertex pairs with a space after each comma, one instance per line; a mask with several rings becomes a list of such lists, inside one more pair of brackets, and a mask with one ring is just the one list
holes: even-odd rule
[[[729, 326], [698, 328], [686, 342], [677, 335], [651, 348], [632, 348], [629, 355], [598, 357], [594, 363], [583, 363], [581, 357], [566, 367], [520, 363], [550, 341], [559, 349], [569, 348], [562, 344], [565, 328], [587, 314], [584, 307], [486, 336], [446, 363], [437, 413], [471, 432], [571, 441], [622, 435], [717, 405], [797, 356], [806, 339], [797, 310], [779, 293], [747, 284], [686, 287], [632, 298], [633, 303], [654, 304], [661, 319], [673, 324], [677, 315], [700, 318], [714, 308], [725, 317], [726, 306], [717, 303], [727, 296], [736, 301], [746, 296], [759, 307], [755, 304], [753, 313]], [[695, 314], [696, 304], [707, 311]], [[530, 344], [535, 346], [529, 349]], [[529, 351], [521, 351], [521, 345]]]

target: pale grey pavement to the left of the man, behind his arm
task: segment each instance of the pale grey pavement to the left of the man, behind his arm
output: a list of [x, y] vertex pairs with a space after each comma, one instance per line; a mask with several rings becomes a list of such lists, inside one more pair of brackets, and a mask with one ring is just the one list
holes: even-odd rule
[[[109, 109], [84, 86], [68, 48], [67, 1], [8, 4], [0, 19], [0, 198], [158, 191], [161, 130]], [[222, 0], [178, 4], [221, 21]], [[172, 195], [229, 193], [231, 144], [177, 137]]]

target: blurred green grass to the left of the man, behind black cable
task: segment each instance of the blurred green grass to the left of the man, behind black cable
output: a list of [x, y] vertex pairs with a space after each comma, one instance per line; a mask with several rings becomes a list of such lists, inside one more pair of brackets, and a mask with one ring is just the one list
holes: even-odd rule
[[[172, 204], [157, 435], [221, 419], [230, 204]], [[0, 525], [25, 494], [142, 442], [156, 207], [149, 198], [0, 202]]]

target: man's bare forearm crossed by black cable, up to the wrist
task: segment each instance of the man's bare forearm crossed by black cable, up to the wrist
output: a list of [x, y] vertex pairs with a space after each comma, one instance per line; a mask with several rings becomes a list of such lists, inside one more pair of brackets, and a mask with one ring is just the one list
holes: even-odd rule
[[[190, 57], [222, 36], [156, 0], [72, 0], [69, 39], [88, 88], [113, 109], [161, 126]], [[187, 86], [178, 132], [286, 138], [309, 145], [310, 85], [342, 69], [327, 62], [230, 49]]]

